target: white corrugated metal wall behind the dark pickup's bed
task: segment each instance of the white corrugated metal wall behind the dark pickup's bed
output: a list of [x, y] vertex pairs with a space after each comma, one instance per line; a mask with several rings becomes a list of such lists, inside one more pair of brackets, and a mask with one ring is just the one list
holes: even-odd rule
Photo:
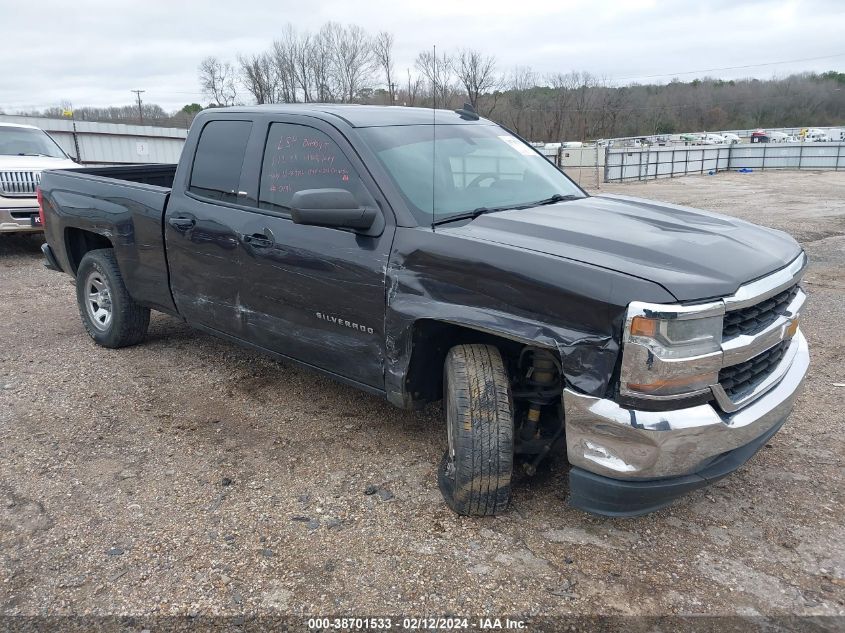
[[65, 152], [89, 165], [177, 163], [188, 135], [181, 128], [12, 115], [0, 115], [0, 123], [39, 127]]

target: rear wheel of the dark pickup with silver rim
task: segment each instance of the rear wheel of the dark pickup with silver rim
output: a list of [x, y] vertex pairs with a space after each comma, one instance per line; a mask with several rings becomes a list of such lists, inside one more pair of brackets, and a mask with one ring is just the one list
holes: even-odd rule
[[76, 272], [76, 302], [88, 335], [103, 347], [127, 347], [144, 340], [150, 309], [129, 296], [114, 251], [88, 251]]

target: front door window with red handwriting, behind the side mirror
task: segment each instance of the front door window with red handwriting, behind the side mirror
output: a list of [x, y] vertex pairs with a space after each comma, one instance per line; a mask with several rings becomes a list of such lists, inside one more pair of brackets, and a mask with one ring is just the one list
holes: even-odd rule
[[362, 206], [375, 201], [352, 164], [327, 134], [304, 125], [273, 123], [267, 135], [258, 204], [286, 212], [304, 189], [346, 189]]

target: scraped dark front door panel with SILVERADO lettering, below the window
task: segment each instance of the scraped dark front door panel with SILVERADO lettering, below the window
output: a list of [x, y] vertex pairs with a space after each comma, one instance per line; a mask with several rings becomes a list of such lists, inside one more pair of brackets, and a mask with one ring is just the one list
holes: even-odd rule
[[392, 227], [377, 237], [248, 213], [241, 302], [249, 340], [382, 389], [384, 271]]

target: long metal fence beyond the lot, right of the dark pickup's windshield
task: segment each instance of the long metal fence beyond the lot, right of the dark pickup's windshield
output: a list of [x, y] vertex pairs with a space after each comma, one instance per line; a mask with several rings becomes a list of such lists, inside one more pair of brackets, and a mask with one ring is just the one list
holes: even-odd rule
[[604, 182], [654, 180], [736, 169], [845, 170], [845, 143], [754, 143], [607, 148]]

